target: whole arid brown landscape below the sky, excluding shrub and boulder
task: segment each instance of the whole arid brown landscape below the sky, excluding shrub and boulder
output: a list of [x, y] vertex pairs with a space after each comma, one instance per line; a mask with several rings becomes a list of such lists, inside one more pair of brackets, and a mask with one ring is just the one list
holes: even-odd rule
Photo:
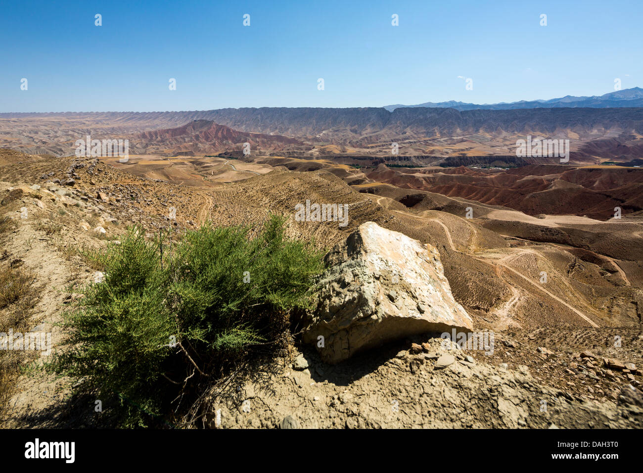
[[[640, 109], [609, 109], [620, 114], [618, 124], [599, 117], [603, 110], [579, 111], [607, 121], [600, 132], [557, 128], [563, 138], [586, 137], [574, 140], [565, 163], [519, 160], [507, 145], [549, 129], [533, 116], [505, 138], [496, 129], [482, 140], [484, 129], [474, 127], [467, 131], [477, 133], [474, 142], [444, 128], [440, 138], [408, 142], [392, 125], [371, 129], [360, 113], [349, 114], [359, 129], [347, 125], [350, 133], [341, 134], [334, 120], [347, 111], [329, 116], [328, 129], [309, 129], [295, 110], [285, 118], [257, 112], [258, 124], [240, 123], [249, 113], [226, 120], [253, 131], [204, 118], [161, 128], [177, 124], [176, 113], [0, 114], [2, 260], [34, 275], [30, 323], [44, 324], [56, 346], [64, 335], [56, 322], [95, 278], [78, 248], [120, 243], [133, 225], [149, 237], [202, 225], [255, 231], [276, 213], [290, 237], [327, 252], [373, 222], [437, 250], [473, 329], [494, 334], [491, 353], [465, 346], [451, 357], [439, 333], [410, 330], [328, 364], [314, 344], [294, 337], [267, 365], [244, 364], [227, 385], [202, 394], [198, 409], [168, 420], [198, 427], [642, 426]], [[622, 116], [633, 121], [622, 125]], [[79, 157], [74, 138], [86, 134], [127, 139], [131, 153]], [[386, 154], [396, 140], [399, 154]], [[295, 209], [306, 201], [346, 205], [347, 225], [301, 221]], [[72, 407], [77, 398], [66, 378], [37, 373], [12, 382], [5, 426], [109, 423]], [[253, 409], [243, 407], [249, 402]]]

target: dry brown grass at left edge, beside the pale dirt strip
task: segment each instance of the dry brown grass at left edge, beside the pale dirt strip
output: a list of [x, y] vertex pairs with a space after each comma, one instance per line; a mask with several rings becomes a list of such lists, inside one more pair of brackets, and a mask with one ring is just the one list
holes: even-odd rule
[[[37, 302], [33, 274], [5, 264], [0, 267], [0, 330], [14, 333], [30, 330], [30, 318]], [[28, 357], [24, 350], [0, 350], [0, 413], [14, 391], [15, 382]]]

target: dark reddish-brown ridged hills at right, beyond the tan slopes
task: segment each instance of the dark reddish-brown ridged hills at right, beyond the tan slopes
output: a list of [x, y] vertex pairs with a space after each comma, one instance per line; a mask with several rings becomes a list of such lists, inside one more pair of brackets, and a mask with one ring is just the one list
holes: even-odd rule
[[368, 179], [406, 189], [502, 205], [529, 215], [572, 214], [595, 219], [643, 210], [643, 169], [615, 166], [527, 165], [518, 169], [467, 167], [405, 169], [379, 165]]

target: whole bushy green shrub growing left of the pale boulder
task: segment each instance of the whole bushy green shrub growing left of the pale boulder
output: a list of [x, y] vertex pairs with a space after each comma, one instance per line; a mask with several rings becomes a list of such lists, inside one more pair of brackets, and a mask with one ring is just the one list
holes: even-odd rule
[[205, 376], [275, 342], [291, 314], [309, 309], [322, 254], [285, 238], [284, 225], [272, 216], [255, 237], [248, 227], [204, 226], [171, 253], [167, 236], [129, 230], [91, 255], [105, 280], [65, 315], [69, 348], [48, 368], [82, 378], [105, 407], [120, 398], [113, 412], [123, 427], [149, 425], [170, 400], [197, 395]]

